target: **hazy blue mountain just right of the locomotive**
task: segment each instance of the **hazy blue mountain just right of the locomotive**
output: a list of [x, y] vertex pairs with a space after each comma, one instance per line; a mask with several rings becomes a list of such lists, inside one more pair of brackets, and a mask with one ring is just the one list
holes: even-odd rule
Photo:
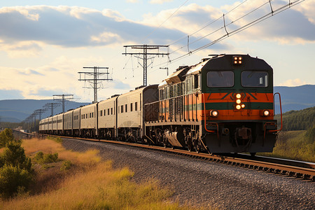
[[[297, 87], [276, 86], [274, 92], [281, 94], [282, 113], [315, 106], [315, 85]], [[276, 113], [280, 113], [279, 99], [276, 97]]]

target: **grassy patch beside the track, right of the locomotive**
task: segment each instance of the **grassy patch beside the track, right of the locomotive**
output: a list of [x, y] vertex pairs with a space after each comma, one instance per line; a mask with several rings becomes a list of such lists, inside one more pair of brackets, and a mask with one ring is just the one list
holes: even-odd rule
[[272, 153], [258, 153], [274, 158], [315, 162], [315, 141], [306, 137], [307, 131], [280, 132]]

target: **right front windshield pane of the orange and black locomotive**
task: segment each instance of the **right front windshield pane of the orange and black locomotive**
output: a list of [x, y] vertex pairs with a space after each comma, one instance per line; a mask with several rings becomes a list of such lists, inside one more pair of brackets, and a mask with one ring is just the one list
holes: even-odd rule
[[243, 87], [268, 87], [268, 73], [265, 71], [241, 72], [241, 85]]

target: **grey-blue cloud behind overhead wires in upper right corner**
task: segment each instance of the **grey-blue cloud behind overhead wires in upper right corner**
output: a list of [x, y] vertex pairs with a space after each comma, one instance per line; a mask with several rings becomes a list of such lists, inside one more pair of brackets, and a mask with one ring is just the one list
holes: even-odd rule
[[[251, 22], [262, 18], [271, 13], [269, 3], [262, 6], [265, 1], [246, 2], [239, 8], [232, 10], [239, 2], [223, 6], [226, 11], [232, 10], [231, 13], [225, 15], [225, 22], [228, 31], [233, 31], [240, 27], [250, 24]], [[272, 10], [277, 10], [285, 6], [288, 1], [272, 2]], [[304, 3], [301, 3], [301, 5]], [[261, 7], [260, 7], [261, 6]], [[258, 10], [255, 10], [257, 9]], [[287, 7], [288, 8], [288, 7]], [[276, 15], [269, 15], [270, 18], [259, 22], [253, 27], [249, 27], [244, 32], [233, 36], [236, 39], [248, 41], [276, 41], [279, 43], [314, 43], [315, 42], [315, 25], [314, 25], [314, 9], [315, 1], [309, 2], [309, 7], [294, 6], [288, 8]], [[253, 11], [253, 13], [251, 13]]]

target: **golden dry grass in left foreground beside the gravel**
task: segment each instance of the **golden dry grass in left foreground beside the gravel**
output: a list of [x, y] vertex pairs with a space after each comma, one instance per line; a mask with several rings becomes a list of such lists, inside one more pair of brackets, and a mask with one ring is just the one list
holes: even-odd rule
[[[50, 139], [29, 139], [22, 146], [32, 157], [38, 151], [58, 153], [62, 161], [52, 162], [55, 167], [48, 169], [37, 166], [38, 176], [43, 176], [41, 190], [1, 200], [0, 209], [191, 209], [169, 202], [172, 190], [158, 181], [130, 181], [130, 169], [113, 169], [111, 161], [101, 161], [99, 151], [66, 151]], [[56, 176], [60, 178], [50, 179]]]

